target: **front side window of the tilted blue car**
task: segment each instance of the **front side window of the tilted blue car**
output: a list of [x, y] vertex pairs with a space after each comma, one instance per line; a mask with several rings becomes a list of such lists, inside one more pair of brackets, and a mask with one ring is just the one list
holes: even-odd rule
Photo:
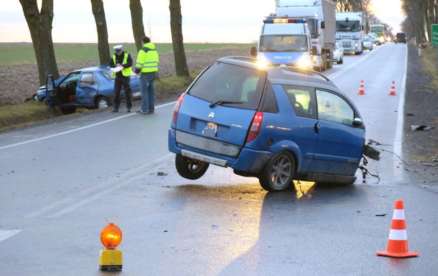
[[316, 90], [318, 120], [353, 125], [354, 110], [342, 97], [328, 91]]

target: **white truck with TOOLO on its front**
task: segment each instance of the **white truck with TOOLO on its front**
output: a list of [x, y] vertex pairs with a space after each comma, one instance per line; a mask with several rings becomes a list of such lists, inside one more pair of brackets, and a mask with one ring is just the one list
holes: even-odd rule
[[345, 53], [361, 54], [365, 37], [362, 12], [336, 13], [336, 40]]

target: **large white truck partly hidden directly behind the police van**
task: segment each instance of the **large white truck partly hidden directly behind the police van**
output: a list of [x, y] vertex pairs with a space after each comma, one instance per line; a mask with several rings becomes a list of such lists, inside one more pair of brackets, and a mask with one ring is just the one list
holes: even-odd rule
[[313, 56], [313, 66], [318, 71], [333, 66], [335, 9], [336, 2], [333, 0], [275, 0], [275, 16], [306, 19], [312, 46], [317, 49], [317, 54]]

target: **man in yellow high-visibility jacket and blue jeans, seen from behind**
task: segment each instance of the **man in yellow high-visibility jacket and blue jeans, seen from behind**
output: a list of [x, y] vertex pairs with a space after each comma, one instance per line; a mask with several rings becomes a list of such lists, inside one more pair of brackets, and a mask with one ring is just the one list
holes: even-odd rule
[[137, 113], [154, 113], [155, 111], [155, 78], [158, 71], [158, 52], [150, 38], [145, 36], [142, 39], [143, 46], [138, 52], [135, 64], [135, 75], [140, 76], [140, 88], [142, 91], [142, 107]]

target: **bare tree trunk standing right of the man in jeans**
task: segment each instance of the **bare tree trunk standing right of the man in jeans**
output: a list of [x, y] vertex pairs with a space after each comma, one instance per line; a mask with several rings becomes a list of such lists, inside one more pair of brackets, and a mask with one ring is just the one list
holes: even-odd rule
[[170, 32], [172, 33], [173, 56], [177, 76], [190, 77], [183, 43], [183, 16], [180, 0], [170, 0]]

